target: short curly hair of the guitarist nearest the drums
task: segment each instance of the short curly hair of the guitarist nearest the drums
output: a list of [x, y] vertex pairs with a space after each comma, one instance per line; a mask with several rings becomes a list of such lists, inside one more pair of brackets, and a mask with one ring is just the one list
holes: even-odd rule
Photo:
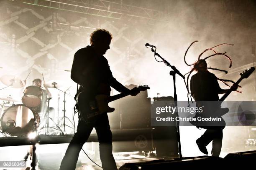
[[90, 35], [91, 44], [105, 39], [112, 40], [112, 34], [105, 29], [97, 29]]

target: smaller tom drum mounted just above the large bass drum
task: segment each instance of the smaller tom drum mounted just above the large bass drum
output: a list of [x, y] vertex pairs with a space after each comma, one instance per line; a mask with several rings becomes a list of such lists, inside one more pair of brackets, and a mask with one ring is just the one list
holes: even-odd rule
[[40, 87], [31, 85], [24, 90], [22, 103], [28, 107], [37, 107], [42, 101], [43, 90]]

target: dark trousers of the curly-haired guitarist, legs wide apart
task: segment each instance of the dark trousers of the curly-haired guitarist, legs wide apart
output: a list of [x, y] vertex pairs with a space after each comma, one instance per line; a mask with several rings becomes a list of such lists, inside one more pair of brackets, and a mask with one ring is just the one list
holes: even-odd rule
[[112, 154], [112, 133], [108, 122], [107, 113], [103, 113], [94, 123], [79, 121], [77, 133], [74, 134], [59, 170], [75, 170], [80, 150], [95, 128], [100, 146], [100, 160], [103, 170], [117, 170]]

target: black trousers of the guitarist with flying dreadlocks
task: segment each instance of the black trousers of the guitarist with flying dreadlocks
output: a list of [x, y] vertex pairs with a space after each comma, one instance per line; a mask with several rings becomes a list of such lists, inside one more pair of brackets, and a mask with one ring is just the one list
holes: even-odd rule
[[212, 156], [220, 156], [223, 129], [207, 129], [199, 138], [200, 143], [207, 146], [212, 141]]

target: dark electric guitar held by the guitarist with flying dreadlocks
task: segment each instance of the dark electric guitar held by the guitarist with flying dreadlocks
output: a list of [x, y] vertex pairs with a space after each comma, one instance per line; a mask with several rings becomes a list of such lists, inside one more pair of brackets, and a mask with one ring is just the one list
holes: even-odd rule
[[[246, 69], [245, 71], [243, 71], [242, 73], [240, 73], [241, 77], [235, 82], [236, 85], [238, 85], [243, 79], [248, 78], [251, 73], [253, 73], [253, 71], [255, 70], [254, 67], [251, 67], [250, 69]], [[221, 121], [218, 122], [219, 125], [225, 125], [225, 121], [223, 120], [222, 116], [225, 115], [229, 109], [228, 108], [221, 108], [221, 104], [222, 102], [228, 97], [228, 95], [230, 95], [230, 93], [232, 92], [232, 89], [230, 88], [221, 98], [220, 100], [216, 101], [216, 102], [205, 102], [206, 105], [204, 105], [203, 107], [203, 112], [196, 113], [195, 117], [197, 118], [198, 116], [201, 117], [220, 117]], [[198, 122], [198, 121], [190, 121], [190, 123], [192, 125], [195, 125], [197, 127], [202, 128], [202, 124], [204, 124], [205, 126], [210, 125], [210, 123], [212, 123], [212, 125], [216, 125], [216, 122]], [[200, 125], [201, 124], [201, 125]], [[204, 127], [205, 127], [204, 126]]]

